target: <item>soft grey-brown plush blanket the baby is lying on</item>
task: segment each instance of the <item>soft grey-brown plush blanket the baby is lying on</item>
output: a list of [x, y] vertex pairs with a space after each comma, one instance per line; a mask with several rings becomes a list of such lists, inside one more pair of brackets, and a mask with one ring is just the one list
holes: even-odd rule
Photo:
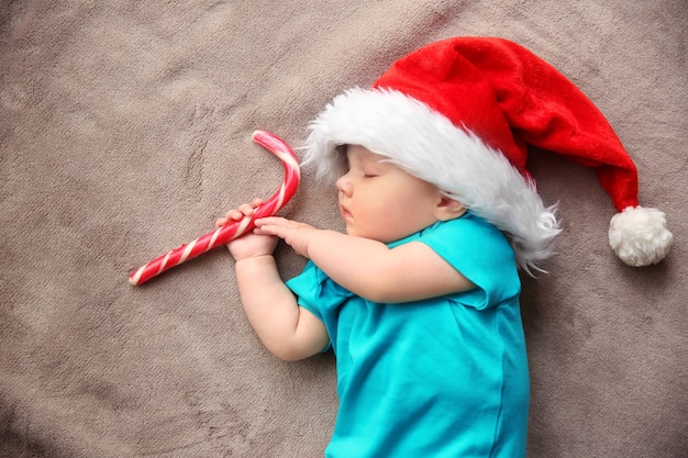
[[[685, 0], [0, 1], [0, 456], [321, 456], [334, 357], [269, 355], [226, 249], [127, 275], [277, 189], [255, 129], [299, 146], [396, 58], [496, 35], [597, 103], [676, 238], [623, 265], [595, 174], [533, 152], [564, 232], [550, 273], [523, 279], [529, 456], [685, 457], [687, 26]], [[306, 169], [282, 214], [341, 228], [335, 198]], [[276, 256], [285, 278], [306, 262]]]

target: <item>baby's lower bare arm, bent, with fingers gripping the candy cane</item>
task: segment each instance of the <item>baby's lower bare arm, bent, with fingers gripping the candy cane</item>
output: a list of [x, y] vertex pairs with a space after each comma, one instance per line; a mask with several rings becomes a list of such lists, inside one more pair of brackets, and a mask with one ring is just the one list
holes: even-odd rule
[[[242, 205], [218, 225], [252, 212], [251, 205]], [[246, 234], [230, 242], [228, 248], [236, 260], [236, 282], [248, 322], [270, 353], [292, 361], [321, 351], [329, 336], [324, 324], [297, 304], [279, 277], [273, 257], [276, 242], [274, 236]]]

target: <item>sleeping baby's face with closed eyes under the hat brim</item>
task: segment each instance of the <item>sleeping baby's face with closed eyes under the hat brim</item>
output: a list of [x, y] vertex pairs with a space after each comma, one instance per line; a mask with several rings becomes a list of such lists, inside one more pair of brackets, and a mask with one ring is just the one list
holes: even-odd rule
[[358, 145], [346, 148], [347, 172], [336, 182], [349, 235], [390, 243], [437, 221], [444, 198], [434, 186]]

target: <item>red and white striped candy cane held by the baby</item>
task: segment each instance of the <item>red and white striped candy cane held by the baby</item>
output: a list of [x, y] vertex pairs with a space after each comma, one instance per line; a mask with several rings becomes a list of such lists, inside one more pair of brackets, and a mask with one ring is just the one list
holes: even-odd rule
[[255, 221], [257, 219], [274, 215], [291, 200], [299, 187], [299, 180], [301, 178], [299, 160], [296, 155], [281, 138], [268, 132], [254, 132], [253, 141], [282, 161], [285, 166], [285, 179], [279, 190], [275, 192], [267, 202], [258, 206], [252, 216], [244, 216], [241, 221], [231, 221], [222, 227], [198, 237], [193, 242], [181, 245], [166, 255], [153, 259], [129, 276], [130, 283], [141, 284], [165, 270], [179, 266], [181, 262], [233, 241], [248, 231], [252, 231], [255, 227]]

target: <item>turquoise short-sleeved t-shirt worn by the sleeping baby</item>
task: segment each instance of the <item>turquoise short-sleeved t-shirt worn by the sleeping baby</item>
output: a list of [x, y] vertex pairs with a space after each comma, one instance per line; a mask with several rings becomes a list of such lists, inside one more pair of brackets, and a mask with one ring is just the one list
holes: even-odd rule
[[390, 244], [424, 243], [477, 288], [401, 304], [343, 289], [315, 265], [288, 281], [328, 328], [340, 411], [326, 456], [525, 454], [528, 361], [506, 237], [466, 214]]

